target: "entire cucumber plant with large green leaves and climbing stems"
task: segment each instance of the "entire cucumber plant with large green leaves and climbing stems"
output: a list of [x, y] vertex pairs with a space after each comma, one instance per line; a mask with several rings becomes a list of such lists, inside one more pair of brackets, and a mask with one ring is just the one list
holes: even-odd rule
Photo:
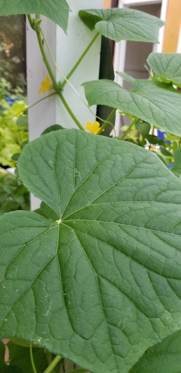
[[[4, 0], [0, 15], [15, 13], [28, 15], [53, 87], [79, 129], [53, 128], [25, 145], [18, 159], [20, 179], [42, 204], [35, 212], [0, 217], [0, 338], [9, 338], [8, 361], [0, 344], [1, 371], [58, 373], [69, 359], [80, 367], [77, 373], [179, 373], [179, 154], [174, 175], [147, 142], [100, 136], [110, 115], [98, 134], [86, 132], [64, 100], [66, 81], [55, 81], [39, 37], [39, 13], [66, 32], [66, 0]], [[163, 25], [131, 9], [82, 10], [79, 16], [117, 42], [156, 42]], [[130, 91], [104, 79], [85, 82], [88, 104], [131, 116], [142, 140], [149, 139], [144, 131], [150, 126], [180, 137], [181, 93], [173, 87], [181, 79], [178, 61], [180, 55], [152, 54], [155, 80], [128, 78]], [[144, 131], [138, 120], [148, 123]]]

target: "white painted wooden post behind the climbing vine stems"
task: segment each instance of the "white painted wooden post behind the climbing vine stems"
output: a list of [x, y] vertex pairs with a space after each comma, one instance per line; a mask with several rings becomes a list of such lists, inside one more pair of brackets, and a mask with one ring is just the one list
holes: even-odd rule
[[[54, 22], [46, 17], [42, 17], [41, 24], [55, 62], [65, 76], [73, 68], [74, 64], [95, 35], [95, 31], [90, 31], [80, 20], [78, 16], [79, 10], [101, 9], [103, 8], [104, 1], [69, 0], [68, 3], [72, 12], [70, 12], [69, 15], [67, 35], [59, 26], [55, 25]], [[45, 97], [44, 94], [39, 94], [38, 91], [41, 87], [41, 82], [45, 80], [48, 72], [39, 50], [36, 32], [31, 29], [28, 19], [26, 29], [28, 106], [31, 106], [39, 99]], [[63, 78], [53, 65], [47, 47], [44, 46], [44, 48], [56, 80], [63, 81]], [[87, 55], [70, 78], [70, 82], [85, 101], [86, 98], [81, 84], [99, 78], [100, 48], [101, 36], [96, 39]], [[47, 91], [46, 95], [50, 93], [51, 91]], [[89, 109], [83, 104], [69, 84], [65, 85], [63, 95], [74, 115], [84, 128], [86, 122], [93, 123], [95, 121], [95, 116], [90, 113]], [[96, 107], [92, 107], [91, 110], [96, 113]], [[29, 109], [28, 120], [30, 141], [39, 137], [45, 128], [53, 124], [60, 124], [64, 128], [77, 128], [57, 95], [47, 98], [32, 107], [32, 109]], [[31, 196], [31, 210], [37, 209], [39, 205], [40, 201]]]

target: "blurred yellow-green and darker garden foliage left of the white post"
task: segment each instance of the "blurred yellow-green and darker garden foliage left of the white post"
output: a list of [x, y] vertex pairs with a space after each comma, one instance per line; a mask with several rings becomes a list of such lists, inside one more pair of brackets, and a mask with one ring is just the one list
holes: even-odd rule
[[[29, 210], [29, 191], [18, 173], [5, 170], [15, 167], [23, 145], [28, 141], [28, 118], [22, 113], [27, 105], [20, 87], [0, 78], [0, 215], [15, 210]], [[15, 154], [16, 153], [16, 154]]]

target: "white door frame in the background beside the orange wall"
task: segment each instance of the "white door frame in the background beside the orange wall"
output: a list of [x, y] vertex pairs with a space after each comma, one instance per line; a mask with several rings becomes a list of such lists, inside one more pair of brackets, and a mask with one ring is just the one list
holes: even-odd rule
[[[161, 16], [162, 21], [166, 21], [166, 11], [168, 0], [119, 0], [118, 8], [127, 8], [133, 5], [150, 5], [150, 4], [162, 4], [161, 7]], [[165, 26], [163, 26], [158, 32], [158, 41], [159, 44], [154, 44], [154, 52], [162, 52], [163, 50], [163, 40], [164, 40]], [[126, 59], [126, 40], [121, 40], [119, 43], [115, 43], [115, 52], [114, 52], [114, 71], [115, 71], [115, 82], [123, 85], [123, 79], [116, 74], [116, 71], [124, 72], [125, 68], [125, 59]], [[116, 120], [115, 120], [115, 132], [116, 135], [119, 135], [120, 131], [120, 115], [117, 111]]]

